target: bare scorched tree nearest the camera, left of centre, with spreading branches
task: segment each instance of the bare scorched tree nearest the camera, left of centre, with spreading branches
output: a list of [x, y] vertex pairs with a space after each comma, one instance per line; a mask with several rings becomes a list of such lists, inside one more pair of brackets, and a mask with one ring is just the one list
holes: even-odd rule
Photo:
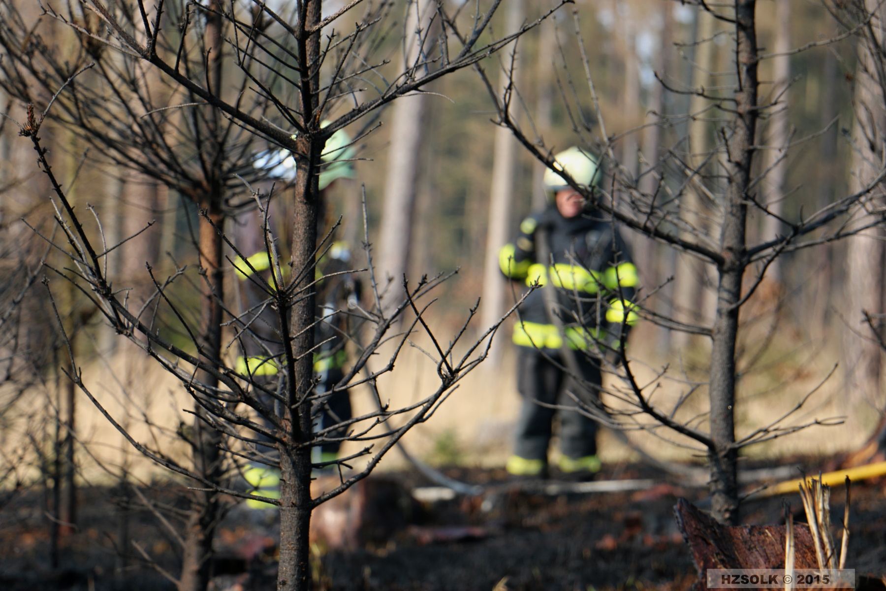
[[[446, 399], [447, 393], [486, 356], [484, 339], [498, 326], [496, 323], [477, 342], [465, 346], [467, 353], [462, 353], [461, 358], [456, 357], [454, 347], [463, 337], [464, 329], [451, 339], [450, 345], [442, 346], [424, 319], [430, 306], [425, 301], [426, 295], [445, 277], [423, 278], [417, 284], [400, 283], [400, 278], [395, 278], [388, 292], [399, 291], [401, 287], [402, 295], [395, 306], [383, 307], [385, 286], [379, 286], [371, 273], [371, 251], [367, 245], [369, 284], [372, 285], [370, 304], [332, 313], [353, 315], [363, 324], [360, 334], [341, 335], [341, 338], [354, 342], [354, 362], [330, 392], [315, 393], [313, 366], [318, 348], [315, 330], [318, 323], [327, 322], [327, 316], [317, 315], [315, 292], [318, 282], [323, 279], [316, 276], [315, 269], [318, 258], [329, 249], [334, 231], [318, 228], [321, 206], [318, 176], [330, 165], [328, 159], [323, 158], [327, 141], [338, 130], [354, 124], [358, 131], [354, 134], [353, 144], [358, 144], [377, 128], [382, 107], [398, 97], [421, 92], [425, 85], [441, 76], [478, 63], [538, 21], [493, 37], [488, 25], [499, 2], [490, 3], [486, 12], [480, 14], [467, 14], [461, 9], [450, 13], [444, 4], [431, 4], [431, 24], [418, 28], [416, 35], [426, 39], [431, 31], [435, 31], [432, 51], [408, 54], [411, 56], [408, 63], [400, 71], [390, 72], [384, 54], [379, 55], [385, 48], [384, 23], [392, 11], [390, 3], [361, 3], [357, 0], [327, 17], [323, 17], [319, 0], [296, 3], [288, 12], [276, 12], [258, 2], [176, 3], [174, 10], [167, 10], [172, 4], [162, 0], [153, 6], [142, 0], [113, 4], [84, 0], [74, 3], [82, 18], [68, 18], [51, 8], [47, 9], [46, 17], [61, 20], [71, 27], [90, 51], [125, 56], [133, 67], [144, 68], [145, 73], [152, 72], [169, 85], [170, 97], [178, 98], [166, 97], [166, 105], [152, 105], [151, 113], [145, 113], [144, 117], [139, 111], [139, 116], [133, 118], [138, 121], [136, 127], [155, 125], [152, 121], [158, 113], [185, 113], [180, 116], [218, 121], [221, 127], [215, 129], [223, 129], [222, 136], [245, 129], [258, 138], [256, 141], [269, 145], [272, 150], [289, 153], [297, 174], [291, 191], [282, 195], [292, 210], [291, 219], [285, 221], [291, 239], [287, 245], [271, 229], [272, 198], [282, 195], [247, 191], [249, 200], [261, 212], [260, 235], [263, 254], [268, 261], [267, 269], [258, 269], [250, 262], [249, 253], [241, 252], [236, 241], [225, 232], [218, 212], [212, 206], [203, 207], [200, 223], [206, 226], [207, 232], [206, 244], [202, 232], [198, 242], [201, 257], [210, 253], [213, 261], [219, 261], [221, 244], [226, 245], [232, 253], [231, 266], [249, 271], [244, 275], [249, 275], [264, 293], [264, 300], [243, 311], [229, 306], [221, 290], [216, 290], [213, 284], [216, 270], [221, 269], [219, 264], [206, 268], [206, 281], [213, 285], [213, 289], [206, 293], [212, 296], [212, 301], [207, 299], [204, 302], [203, 320], [197, 326], [189, 322], [170, 293], [176, 282], [188, 272], [184, 267], [176, 268], [166, 278], [152, 274], [152, 293], [145, 305], [136, 308], [122, 297], [119, 287], [112, 283], [113, 277], [105, 274], [103, 259], [114, 245], [100, 243], [100, 216], [95, 224], [87, 227], [66, 197], [63, 183], [53, 173], [51, 158], [39, 139], [43, 117], [32, 111], [28, 121], [22, 124], [21, 133], [34, 144], [40, 166], [51, 179], [59, 224], [67, 239], [67, 246], [62, 250], [74, 264], [71, 270], [59, 268], [58, 274], [88, 294], [114, 330], [129, 338], [181, 381], [195, 402], [198, 431], [206, 430], [217, 439], [202, 440], [196, 445], [200, 453], [195, 454], [194, 468], [180, 465], [162, 450], [145, 447], [128, 435], [102, 407], [101, 401], [93, 396], [89, 384], [82, 380], [77, 369], [71, 378], [133, 446], [169, 470], [197, 481], [201, 493], [265, 500], [236, 486], [228, 486], [223, 477], [236, 474], [243, 461], [278, 466], [281, 472], [280, 499], [273, 501], [281, 508], [278, 588], [303, 589], [307, 586], [307, 534], [311, 510], [365, 478], [409, 428], [427, 420]], [[336, 30], [343, 16], [354, 17], [358, 9], [363, 13], [354, 19], [353, 28], [346, 29], [344, 34]], [[205, 23], [205, 31], [199, 28], [200, 23]], [[224, 31], [221, 43], [227, 48], [224, 51], [219, 51], [217, 26]], [[194, 27], [198, 27], [198, 36], [205, 38], [205, 43], [192, 43]], [[189, 66], [204, 58], [205, 69]], [[222, 62], [222, 71], [225, 71], [226, 64], [237, 73], [238, 87], [231, 89], [224, 82], [217, 82], [221, 75], [213, 69], [216, 58]], [[80, 108], [78, 97], [82, 96], [79, 93], [83, 92], [84, 85], [80, 76], [92, 75], [91, 70], [95, 68], [92, 63], [85, 59], [80, 69], [56, 73], [58, 80], [64, 79], [59, 84], [62, 88], [57, 100], [67, 101], [74, 109]], [[144, 82], [144, 79], [150, 79], [150, 76], [145, 74], [138, 80]], [[187, 102], [180, 102], [181, 97]], [[194, 109], [205, 114], [187, 114]], [[59, 116], [66, 113], [64, 106], [46, 105], [43, 116], [55, 113], [55, 110], [60, 111]], [[143, 123], [143, 119], [148, 121]], [[166, 141], [163, 134], [152, 137], [156, 138], [152, 141]], [[100, 139], [95, 141], [102, 142]], [[197, 134], [191, 141], [200, 141]], [[241, 143], [237, 144], [238, 149], [251, 152], [249, 141], [253, 140], [245, 137], [246, 147], [241, 147]], [[350, 146], [339, 149], [346, 147]], [[213, 168], [224, 161], [218, 157], [219, 145], [213, 142], [192, 145], [191, 148], [198, 154], [201, 167]], [[126, 159], [116, 148], [105, 153], [118, 161]], [[128, 164], [133, 166], [131, 162]], [[231, 174], [234, 172], [229, 168], [226, 170]], [[222, 181], [217, 175], [211, 178], [215, 183]], [[205, 180], [208, 182], [209, 178]], [[215, 189], [221, 191], [214, 185], [207, 187], [212, 195], [217, 194], [212, 192]], [[152, 273], [152, 269], [148, 271]], [[357, 269], [350, 272], [357, 272]], [[154, 328], [158, 310], [165, 311], [168, 318], [174, 319], [171, 322], [175, 323], [177, 330], [188, 335], [188, 346], [176, 345], [162, 330]], [[253, 324], [262, 322], [260, 315], [266, 310], [273, 317], [267, 323], [269, 330], [256, 330]], [[413, 315], [408, 330], [392, 334], [392, 326], [406, 311]], [[471, 315], [473, 311], [469, 318]], [[245, 350], [245, 341], [250, 340], [264, 348], [265, 362], [273, 363], [276, 368], [273, 378], [268, 378], [266, 372], [253, 371], [248, 363], [245, 368], [237, 368], [227, 362], [223, 354], [217, 353], [219, 349], [215, 347], [220, 342], [223, 326], [233, 330], [229, 344], [237, 343]], [[377, 378], [392, 370], [397, 354], [408, 341], [409, 332], [416, 328], [427, 332], [433, 344], [430, 354], [438, 367], [439, 387], [408, 407], [389, 408], [377, 393]], [[364, 341], [363, 335], [368, 341]], [[370, 369], [369, 358], [385, 346], [392, 347], [389, 361], [380, 369]], [[356, 387], [368, 387], [375, 393], [378, 409], [318, 431], [315, 428], [317, 408], [322, 407], [330, 396], [347, 395]], [[402, 423], [395, 424], [400, 418]], [[369, 443], [353, 455], [331, 463], [312, 461], [312, 448], [335, 440]], [[373, 443], [376, 441], [379, 443]], [[267, 448], [273, 449], [273, 453], [264, 451]], [[354, 461], [360, 458], [366, 458], [365, 467], [353, 467]], [[312, 495], [312, 471], [328, 465], [338, 468], [338, 485]], [[208, 528], [202, 522], [196, 525], [200, 530], [198, 534], [206, 541]], [[201, 577], [195, 575], [194, 579]]]

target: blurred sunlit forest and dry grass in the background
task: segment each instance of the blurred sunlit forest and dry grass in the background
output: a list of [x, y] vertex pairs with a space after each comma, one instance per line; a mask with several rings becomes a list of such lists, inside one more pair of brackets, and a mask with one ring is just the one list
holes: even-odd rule
[[[789, 4], [789, 10], [779, 11], [781, 3]], [[19, 10], [30, 12], [34, 18], [40, 10], [33, 2], [13, 4], [19, 4]], [[335, 4], [326, 3], [326, 10], [333, 12]], [[494, 18], [494, 29], [506, 28], [507, 19], [519, 23], [538, 18], [543, 4], [546, 3], [503, 4]], [[595, 105], [581, 74], [583, 66], [572, 10], [577, 12], [585, 39], [587, 63], [599, 95], [599, 108], [607, 121], [606, 131], [617, 138], [614, 146], [624, 166], [648, 166], [657, 159], [658, 151], [678, 144], [680, 137], [695, 134], [698, 142], [711, 142], [707, 135], [712, 127], [705, 121], [719, 116], [716, 107], [709, 110], [699, 97], [666, 92], [659, 79], [675, 89], [731, 87], [734, 44], [727, 29], [697, 6], [663, 0], [577, 0], [522, 36], [516, 48], [512, 46], [507, 53], [487, 58], [482, 67], [496, 81], [500, 72], [511, 66], [509, 56], [516, 51], [514, 105], [518, 106], [514, 110], [525, 127], [536, 128], [548, 146], [558, 151], [574, 142], [575, 121], [596, 118]], [[397, 26], [401, 23], [394, 25]], [[74, 47], [80, 43], [57, 21], [43, 19], [40, 27], [44, 38], [51, 39], [61, 51], [66, 44]], [[779, 47], [814, 45], [844, 32], [827, 7], [813, 0], [758, 4], [759, 44], [765, 48], [764, 53], [786, 51]], [[696, 43], [700, 40], [709, 42]], [[835, 195], [848, 191], [854, 43], [853, 37], [843, 35], [835, 43], [792, 53], [783, 60], [787, 62], [787, 72], [776, 71], [775, 59], [761, 63], [760, 78], [766, 81], [763, 91], [785, 93], [788, 133], [796, 138], [811, 137], [789, 153], [781, 186], [763, 188], [781, 191], [782, 211], [787, 219], [825, 206]], [[391, 43], [392, 62], [398, 59], [398, 47]], [[171, 94], [159, 78], [145, 83], [149, 88], [153, 85], [158, 97]], [[486, 258], [491, 228], [490, 196], [495, 191], [493, 173], [497, 166], [505, 166], [495, 159], [512, 159], [502, 177], [508, 183], [503, 190], [507, 205], [503, 214], [494, 214], [494, 221], [506, 227], [507, 240], [512, 239], [526, 214], [544, 205], [540, 181], [543, 168], [519, 146], [502, 147], [513, 140], [507, 131], [502, 139], [494, 125], [494, 106], [475, 72], [463, 70], [424, 90], [430, 94], [424, 97], [424, 113], [413, 122], [418, 149], [413, 154], [415, 161], [408, 165], [415, 172], [408, 195], [412, 210], [408, 231], [385, 225], [385, 199], [389, 198], [386, 187], [392, 174], [389, 171], [394, 170], [389, 155], [396, 141], [390, 136], [391, 111], [382, 114], [381, 128], [358, 142], [356, 177], [339, 180], [333, 186], [325, 225], [330, 227], [338, 215], [344, 216], [338, 236], [352, 243], [354, 266], [365, 264], [360, 249], [360, 199], [365, 186], [370, 243], [378, 245], [383, 237], [395, 237], [408, 253], [406, 270], [414, 281], [424, 274], [432, 276], [459, 269], [455, 279], [443, 285], [434, 306], [433, 323], [451, 329], [462, 322], [467, 308], [488, 290], [485, 279], [490, 273]], [[38, 110], [48, 99], [35, 89]], [[702, 104], [697, 103], [699, 100]], [[157, 477], [161, 469], [131, 450], [64, 376], [69, 369], [66, 345], [55, 322], [47, 287], [42, 284], [43, 276], [49, 278], [58, 314], [66, 332], [73, 336], [72, 344], [84, 376], [96, 385], [94, 391], [102, 393], [109, 408], [118, 413], [136, 439], [174, 441], [176, 433], [190, 422], [183, 411], [189, 406], [187, 395], [172, 377], [147, 363], [144, 354], [117, 338], [99, 315], [92, 314], [81, 292], [58, 280], [51, 268], [42, 267], [43, 261], [50, 267], [65, 266], [63, 258], [48, 248], [44, 239], [60, 236], [53, 230], [54, 212], [46, 199], [50, 187], [35, 164], [32, 145], [18, 136], [19, 128], [14, 123], [25, 121], [25, 105], [19, 98], [0, 91], [0, 106], [8, 113], [0, 128], [0, 298], [4, 301], [4, 315], [0, 317], [0, 377], [4, 379], [0, 386], [0, 483], [6, 489], [34, 483], [51, 486], [61, 475], [68, 474], [81, 484], [99, 484], [118, 478], [120, 471], [132, 478]], [[397, 107], [391, 107], [394, 108]], [[696, 118], [676, 116], [688, 112], [702, 114]], [[774, 118], [763, 122], [760, 133], [764, 137], [786, 133], [784, 128], [776, 130], [773, 121]], [[356, 129], [349, 131], [356, 133]], [[82, 210], [89, 204], [105, 220], [107, 243], [137, 234], [108, 257], [108, 265], [115, 269], [116, 276], [125, 278], [132, 287], [129, 297], [133, 301], [144, 299], [144, 293], [151, 289], [145, 262], [160, 277], [196, 261], [193, 233], [198, 213], [189, 198], [133, 167], [113, 163], [90, 148], [78, 131], [64, 121], [48, 119], [43, 126], [43, 140], [51, 147], [54, 169], [64, 179], [70, 197]], [[258, 153], [267, 147], [253, 141], [249, 150]], [[501, 183], [501, 179], [497, 182]], [[270, 185], [268, 180], [259, 183]], [[766, 183], [773, 183], [771, 176]], [[285, 204], [290, 190], [280, 184], [276, 191]], [[239, 196], [234, 191], [231, 199], [248, 198], [245, 186], [239, 191]], [[244, 214], [243, 219], [228, 218], [228, 229], [234, 231], [235, 225], [245, 223], [249, 215], [253, 214]], [[287, 235], [286, 219], [281, 214], [276, 220], [281, 224], [280, 236]], [[764, 226], [761, 218], [751, 218], [749, 237], [766, 235], [769, 230]], [[649, 306], [663, 315], [682, 315], [710, 324], [710, 270], [688, 261], [685, 254], [624, 231], [640, 269], [641, 284], [664, 284], [649, 300]], [[872, 236], [851, 237], [833, 245], [784, 254], [778, 268], [769, 270], [771, 279], [742, 312], [742, 321], [753, 326], [744, 333], [745, 342], [741, 344], [745, 361], [740, 363], [739, 391], [747, 403], [740, 410], [739, 431], [793, 407], [838, 363], [834, 375], [803, 409], [803, 416], [846, 417], [840, 426], [816, 427], [790, 438], [776, 439], [751, 447], [745, 452], [747, 455], [831, 455], [861, 446], [874, 432], [882, 408], [882, 355], [874, 334], [864, 322], [862, 307], [872, 315], [882, 312], [881, 240], [882, 232], [877, 230]], [[853, 241], [873, 246], [859, 255], [851, 247]], [[492, 246], [497, 248], [499, 244]], [[867, 269], [866, 275], [873, 278], [873, 307], [859, 305], [861, 288], [851, 280], [851, 268], [859, 263], [852, 256], [863, 257], [861, 264]], [[671, 277], [673, 280], [667, 281]], [[183, 284], [175, 288], [175, 298], [195, 317], [199, 315], [199, 280], [197, 275], [190, 277], [192, 291]], [[226, 292], [236, 294], [238, 282], [230, 266], [225, 281], [230, 286]], [[497, 270], [490, 282], [500, 284], [499, 289], [504, 285]], [[647, 292], [651, 289], [647, 287]], [[505, 292], [507, 299], [511, 299], [511, 292]], [[481, 312], [483, 309], [481, 306]], [[488, 316], [485, 318], [488, 325]], [[878, 322], [874, 316], [874, 324]], [[174, 337], [169, 328], [174, 324], [169, 322], [165, 326], [160, 316], [156, 328], [170, 330]], [[478, 332], [485, 329], [479, 319], [470, 326], [470, 330]], [[183, 335], [179, 337], [187, 343]], [[486, 367], [472, 374], [431, 422], [404, 439], [417, 455], [436, 464], [503, 463], [518, 408], [509, 326], [496, 340], [501, 348], [486, 362]], [[633, 331], [630, 344], [631, 355], [639, 366], [652, 368], [670, 362], [683, 380], [681, 385], [703, 382], [706, 346], [701, 338], [688, 338], [651, 322], [642, 322]], [[234, 356], [236, 352], [229, 354]], [[435, 372], [434, 364], [417, 349], [404, 355], [399, 370], [385, 377], [387, 392], [400, 401], [417, 396], [423, 382], [432, 380]], [[863, 358], [874, 362], [860, 364]], [[674, 392], [665, 389], [661, 395], [677, 396], [677, 390], [679, 387], [674, 386]], [[697, 395], [700, 408], [702, 391], [703, 388]], [[368, 396], [367, 400], [358, 399], [355, 394], [357, 412], [369, 408]], [[632, 437], [652, 455], [696, 459], [680, 447], [650, 445], [648, 435]], [[602, 447], [604, 461], [631, 455], [628, 448], [610, 439]], [[175, 445], [184, 453], [183, 442]], [[399, 455], [392, 455], [382, 467], [395, 468], [400, 462]]]

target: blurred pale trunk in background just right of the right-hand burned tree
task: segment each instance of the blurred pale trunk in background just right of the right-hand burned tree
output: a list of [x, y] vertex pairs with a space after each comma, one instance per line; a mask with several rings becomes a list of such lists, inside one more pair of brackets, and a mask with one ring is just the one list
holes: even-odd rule
[[[780, 234], [783, 234], [783, 224], [781, 223], [781, 214], [784, 210], [784, 183], [785, 176], [788, 173], [788, 159], [784, 158], [785, 150], [789, 140], [788, 129], [788, 110], [785, 105], [788, 104], [788, 87], [790, 84], [790, 9], [789, 2], [775, 3], [775, 53], [781, 53], [773, 58], [773, 97], [781, 95], [780, 103], [776, 107], [769, 122], [769, 139], [767, 144], [770, 149], [766, 152], [769, 158], [766, 159], [766, 168], [773, 167], [769, 172], [768, 187], [769, 197], [766, 199], [766, 207], [771, 215], [767, 215], [763, 220], [763, 240], [774, 240]], [[776, 258], [769, 265], [766, 275], [775, 284], [782, 282], [781, 257]]]

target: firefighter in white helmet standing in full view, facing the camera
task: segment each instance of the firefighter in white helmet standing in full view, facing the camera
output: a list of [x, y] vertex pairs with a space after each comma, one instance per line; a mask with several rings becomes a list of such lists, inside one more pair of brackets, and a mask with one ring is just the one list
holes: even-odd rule
[[[572, 147], [555, 159], [555, 166], [583, 187], [599, 183], [593, 154]], [[548, 206], [521, 222], [517, 239], [499, 253], [505, 276], [527, 286], [540, 284], [520, 306], [514, 327], [523, 407], [506, 468], [517, 477], [548, 476], [548, 443], [557, 416], [558, 468], [580, 478], [601, 468], [597, 425], [569, 408], [577, 406], [573, 396], [587, 405], [599, 400], [602, 374], [596, 355], [605, 348], [600, 344], [618, 344], [639, 319], [631, 304], [637, 269], [610, 220], [587, 207], [555, 171], [546, 171], [544, 183]]]

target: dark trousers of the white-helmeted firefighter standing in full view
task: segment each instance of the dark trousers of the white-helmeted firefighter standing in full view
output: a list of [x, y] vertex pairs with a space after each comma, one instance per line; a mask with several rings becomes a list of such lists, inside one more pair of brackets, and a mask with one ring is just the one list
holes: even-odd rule
[[[559, 419], [558, 435], [563, 455], [572, 459], [595, 455], [596, 422], [569, 408], [577, 407], [572, 395], [587, 404], [594, 401], [590, 397], [599, 400], [599, 388], [602, 385], [599, 362], [589, 360], [580, 351], [576, 352], [575, 359], [579, 364], [581, 377], [587, 383], [581, 386], [567, 372], [548, 360], [550, 358], [564, 366], [559, 352], [545, 349], [545, 354], [542, 354], [538, 349], [527, 346], [519, 346], [517, 349], [517, 389], [523, 396], [523, 408], [517, 419], [515, 455], [527, 460], [547, 462], [548, 443], [553, 434], [555, 416]], [[563, 408], [548, 408], [545, 405]]]

